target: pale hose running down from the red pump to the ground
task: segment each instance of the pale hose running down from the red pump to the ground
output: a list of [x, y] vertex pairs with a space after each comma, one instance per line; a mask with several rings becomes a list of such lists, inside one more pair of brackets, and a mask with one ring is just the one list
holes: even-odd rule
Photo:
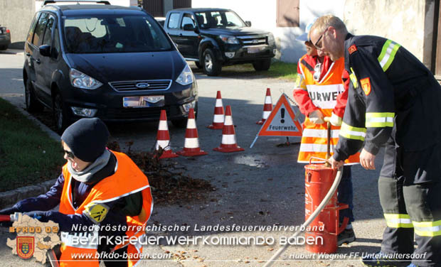
[[[320, 205], [317, 207], [317, 209], [314, 210], [311, 216], [309, 216], [307, 221], [304, 222], [301, 227], [299, 227], [300, 229], [297, 230], [289, 239], [294, 239], [296, 236], [298, 236], [302, 231], [302, 229], [305, 229], [309, 224], [311, 224], [311, 222], [314, 221], [314, 219], [319, 215], [319, 213], [322, 212], [322, 209], [324, 209], [326, 204], [328, 204], [329, 200], [331, 200], [332, 195], [334, 195], [334, 192], [336, 191], [337, 187], [339, 187], [342, 173], [343, 173], [343, 167], [340, 167], [339, 171], [337, 172], [334, 183], [332, 184], [331, 188], [329, 188], [328, 193], [326, 194], [326, 196], [324, 196], [324, 199], [322, 200]], [[274, 263], [274, 261], [280, 257], [280, 254], [282, 254], [283, 251], [285, 251], [288, 248], [288, 246], [289, 246], [289, 242], [287, 242], [285, 246], [282, 246], [278, 251], [276, 251], [276, 253], [272, 255], [272, 257], [267, 261], [267, 263], [265, 263], [263, 267], [272, 266], [272, 263]]]

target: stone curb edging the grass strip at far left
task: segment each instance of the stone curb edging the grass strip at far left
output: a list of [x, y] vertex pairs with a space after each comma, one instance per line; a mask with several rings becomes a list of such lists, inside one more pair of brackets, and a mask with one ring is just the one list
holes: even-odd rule
[[[3, 97], [7, 102], [13, 104], [16, 109], [21, 112], [21, 114], [37, 124], [44, 132], [48, 133], [48, 136], [50, 138], [53, 138], [55, 141], [60, 141], [60, 136], [58, 135], [58, 133], [55, 133], [54, 131], [49, 129], [48, 126], [42, 124], [41, 121], [38, 121], [38, 119], [31, 116], [28, 111], [24, 110], [22, 107], [18, 107], [16, 104], [14, 104], [14, 102], [11, 102], [9, 99], [7, 99], [7, 97], [19, 97], [18, 94], [14, 96], [11, 96], [10, 94], [0, 94], [0, 97]], [[5, 207], [10, 207], [16, 204], [16, 202], [24, 200], [28, 197], [36, 197], [38, 195], [45, 194], [52, 187], [52, 185], [55, 184], [55, 181], [56, 179], [53, 179], [46, 182], [41, 182], [38, 185], [28, 185], [25, 187], [18, 187], [14, 190], [0, 192], [0, 208], [3, 209]]]

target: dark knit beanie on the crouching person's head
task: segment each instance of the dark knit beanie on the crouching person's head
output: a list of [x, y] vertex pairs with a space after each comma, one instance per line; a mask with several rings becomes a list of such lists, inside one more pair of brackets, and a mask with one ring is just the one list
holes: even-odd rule
[[80, 160], [93, 162], [104, 153], [109, 131], [98, 118], [80, 119], [65, 129], [61, 140]]

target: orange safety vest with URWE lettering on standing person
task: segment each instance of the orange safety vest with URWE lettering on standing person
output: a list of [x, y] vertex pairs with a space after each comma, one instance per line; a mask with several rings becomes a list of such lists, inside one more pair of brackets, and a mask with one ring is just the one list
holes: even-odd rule
[[[302, 60], [302, 58], [300, 58]], [[299, 60], [299, 62], [300, 62]], [[304, 77], [304, 83], [307, 86], [309, 97], [314, 106], [322, 111], [323, 116], [331, 116], [332, 109], [336, 105], [336, 97], [344, 92], [341, 75], [344, 70], [344, 58], [333, 62], [328, 72], [319, 82], [314, 80], [313, 73], [303, 64], [299, 64]], [[340, 126], [331, 125], [331, 156], [333, 148], [339, 141]], [[324, 124], [313, 124], [306, 117], [303, 124], [302, 143], [299, 149], [299, 163], [309, 163], [311, 157], [326, 158], [327, 128]], [[359, 163], [359, 153], [350, 156], [345, 160], [345, 165], [354, 165]], [[323, 160], [313, 159], [313, 162], [323, 162]]]

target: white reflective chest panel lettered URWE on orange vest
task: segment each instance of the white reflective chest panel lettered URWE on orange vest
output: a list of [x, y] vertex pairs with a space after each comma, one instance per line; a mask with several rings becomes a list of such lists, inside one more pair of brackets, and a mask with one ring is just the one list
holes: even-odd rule
[[344, 92], [343, 84], [336, 85], [307, 85], [309, 98], [320, 109], [334, 109], [337, 96]]

